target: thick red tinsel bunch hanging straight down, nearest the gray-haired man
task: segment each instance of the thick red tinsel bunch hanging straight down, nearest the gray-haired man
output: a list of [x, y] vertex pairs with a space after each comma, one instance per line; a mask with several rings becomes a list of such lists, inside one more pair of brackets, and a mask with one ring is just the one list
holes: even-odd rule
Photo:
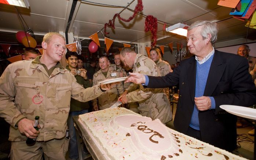
[[145, 31], [151, 31], [152, 34], [152, 46], [156, 45], [157, 41], [157, 18], [153, 15], [148, 15], [145, 20]]

